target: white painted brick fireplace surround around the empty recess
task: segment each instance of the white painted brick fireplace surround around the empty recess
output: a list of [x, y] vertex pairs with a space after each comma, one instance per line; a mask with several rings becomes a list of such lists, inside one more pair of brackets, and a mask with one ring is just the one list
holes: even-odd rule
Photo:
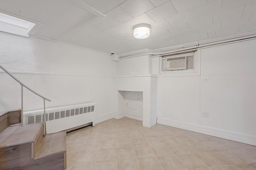
[[118, 91], [142, 91], [143, 93], [143, 126], [152, 127], [157, 116], [157, 75], [130, 75], [114, 77], [114, 118], [125, 117], [120, 106], [121, 95]]

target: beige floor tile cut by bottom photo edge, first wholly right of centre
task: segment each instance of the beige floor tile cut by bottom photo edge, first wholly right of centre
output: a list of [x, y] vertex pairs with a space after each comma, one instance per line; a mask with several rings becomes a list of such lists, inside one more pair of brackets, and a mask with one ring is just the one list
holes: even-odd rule
[[140, 170], [162, 170], [156, 157], [153, 158], [138, 158]]

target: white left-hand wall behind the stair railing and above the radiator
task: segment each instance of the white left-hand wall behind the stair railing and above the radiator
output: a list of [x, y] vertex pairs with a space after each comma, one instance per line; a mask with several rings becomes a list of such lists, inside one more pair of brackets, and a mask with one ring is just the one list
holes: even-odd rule
[[[97, 117], [112, 114], [116, 62], [108, 54], [4, 32], [0, 37], [0, 64], [52, 99], [46, 107], [95, 102]], [[42, 107], [40, 97], [24, 91], [24, 111]], [[20, 85], [0, 71], [0, 111], [18, 108]]]

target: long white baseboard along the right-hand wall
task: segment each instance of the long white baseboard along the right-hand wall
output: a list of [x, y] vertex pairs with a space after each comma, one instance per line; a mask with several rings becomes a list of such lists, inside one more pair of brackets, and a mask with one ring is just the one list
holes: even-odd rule
[[256, 136], [157, 117], [157, 123], [256, 146]]

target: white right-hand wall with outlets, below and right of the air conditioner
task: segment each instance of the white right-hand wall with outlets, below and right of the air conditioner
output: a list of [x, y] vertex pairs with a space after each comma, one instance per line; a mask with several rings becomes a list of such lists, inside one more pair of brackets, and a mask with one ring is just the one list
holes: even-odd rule
[[256, 145], [255, 44], [201, 49], [201, 75], [158, 77], [158, 123]]

